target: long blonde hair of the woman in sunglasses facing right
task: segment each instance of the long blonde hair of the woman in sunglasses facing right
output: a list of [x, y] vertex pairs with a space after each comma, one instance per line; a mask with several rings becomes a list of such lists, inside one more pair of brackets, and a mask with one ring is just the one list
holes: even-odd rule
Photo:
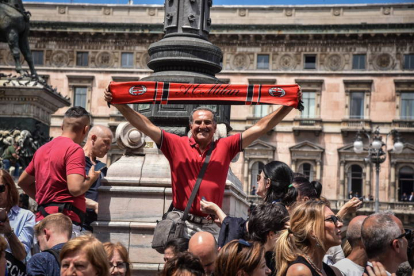
[[311, 239], [325, 250], [325, 207], [321, 200], [309, 200], [296, 204], [291, 211], [290, 228], [284, 230], [276, 241], [277, 276], [285, 275], [289, 263], [301, 253], [308, 255], [312, 248]]

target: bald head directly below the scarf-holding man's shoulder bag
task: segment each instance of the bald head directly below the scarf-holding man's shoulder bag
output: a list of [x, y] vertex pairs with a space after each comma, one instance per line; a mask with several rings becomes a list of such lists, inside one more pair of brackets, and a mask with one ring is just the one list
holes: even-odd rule
[[188, 244], [188, 251], [200, 258], [207, 275], [213, 273], [217, 258], [217, 243], [212, 234], [208, 232], [195, 233]]

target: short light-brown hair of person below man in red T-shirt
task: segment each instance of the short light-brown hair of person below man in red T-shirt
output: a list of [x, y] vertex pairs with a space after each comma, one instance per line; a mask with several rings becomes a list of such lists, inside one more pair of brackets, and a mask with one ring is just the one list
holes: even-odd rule
[[51, 228], [56, 234], [66, 234], [68, 240], [72, 236], [72, 220], [62, 213], [50, 214], [36, 224], [34, 227], [36, 237], [40, 236], [45, 228]]

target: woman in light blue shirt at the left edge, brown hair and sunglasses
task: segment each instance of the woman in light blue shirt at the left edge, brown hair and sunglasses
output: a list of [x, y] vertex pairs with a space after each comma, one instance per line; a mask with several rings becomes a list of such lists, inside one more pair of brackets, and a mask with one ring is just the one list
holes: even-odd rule
[[8, 243], [6, 251], [23, 261], [30, 256], [35, 216], [18, 204], [19, 193], [13, 178], [7, 171], [0, 170], [0, 233]]

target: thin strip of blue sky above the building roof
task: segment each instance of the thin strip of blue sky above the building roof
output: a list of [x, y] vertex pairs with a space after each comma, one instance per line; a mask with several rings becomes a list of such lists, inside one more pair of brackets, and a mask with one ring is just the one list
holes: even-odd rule
[[[128, 0], [30, 0], [30, 2], [126, 4]], [[134, 4], [164, 4], [164, 0], [133, 0], [133, 2]], [[330, 5], [372, 3], [414, 3], [414, 0], [213, 0], [214, 5]]]

